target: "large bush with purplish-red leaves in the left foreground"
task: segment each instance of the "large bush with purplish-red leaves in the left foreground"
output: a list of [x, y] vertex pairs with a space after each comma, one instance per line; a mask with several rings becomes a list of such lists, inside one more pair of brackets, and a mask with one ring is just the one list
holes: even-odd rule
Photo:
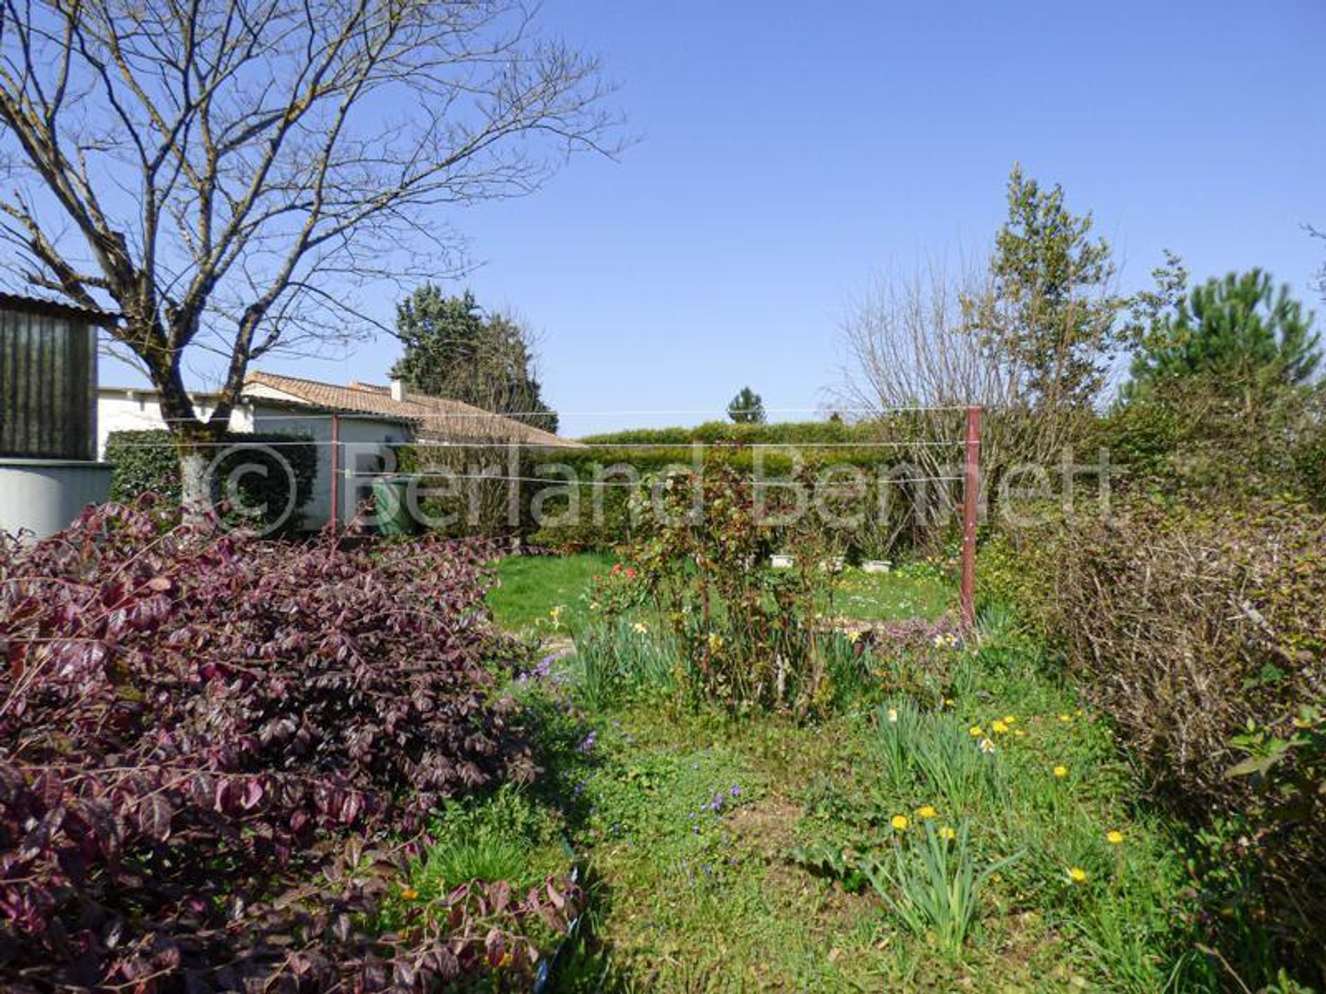
[[374, 929], [436, 799], [536, 773], [483, 665], [511, 647], [481, 551], [264, 543], [117, 505], [0, 546], [0, 986], [528, 970], [525, 926], [572, 914], [552, 881]]

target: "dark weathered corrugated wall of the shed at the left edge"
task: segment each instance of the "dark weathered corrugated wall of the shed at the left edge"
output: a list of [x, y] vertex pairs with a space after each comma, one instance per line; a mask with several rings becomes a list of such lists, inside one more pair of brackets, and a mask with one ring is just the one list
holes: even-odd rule
[[95, 329], [0, 309], [0, 456], [95, 459]]

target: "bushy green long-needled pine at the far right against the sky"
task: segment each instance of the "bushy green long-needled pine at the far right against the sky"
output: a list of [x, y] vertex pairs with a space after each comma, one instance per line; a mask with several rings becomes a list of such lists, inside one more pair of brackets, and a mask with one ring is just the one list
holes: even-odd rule
[[1124, 395], [1201, 376], [1227, 399], [1252, 406], [1311, 382], [1321, 363], [1313, 314], [1277, 292], [1261, 269], [1229, 273], [1196, 286], [1158, 314], [1142, 337]]

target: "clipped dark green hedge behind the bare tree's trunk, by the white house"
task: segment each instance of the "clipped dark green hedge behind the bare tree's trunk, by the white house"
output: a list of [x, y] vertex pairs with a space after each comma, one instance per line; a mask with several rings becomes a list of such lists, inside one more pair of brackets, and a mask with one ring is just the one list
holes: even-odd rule
[[[267, 505], [271, 509], [264, 516], [264, 524], [272, 524], [290, 500], [293, 474], [294, 513], [282, 522], [281, 530], [298, 527], [300, 510], [313, 497], [313, 478], [318, 472], [318, 449], [313, 439], [308, 435], [280, 432], [232, 432], [223, 441], [231, 448], [215, 449], [220, 456], [212, 468], [213, 488], [220, 488], [221, 481], [243, 464], [256, 463], [265, 467], [268, 469], [265, 476], [244, 473], [236, 478], [236, 486], [245, 506]], [[111, 432], [106, 440], [106, 461], [114, 467], [110, 478], [111, 500], [127, 502], [151, 492], [172, 504], [179, 502], [179, 455], [168, 431]]]

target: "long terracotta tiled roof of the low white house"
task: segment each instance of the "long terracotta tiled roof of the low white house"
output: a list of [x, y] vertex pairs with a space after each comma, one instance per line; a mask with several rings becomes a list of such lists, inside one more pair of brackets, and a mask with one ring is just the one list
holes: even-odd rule
[[447, 400], [427, 394], [407, 392], [394, 400], [391, 388], [367, 383], [321, 383], [274, 372], [253, 371], [244, 386], [263, 386], [280, 391], [313, 407], [329, 411], [371, 414], [419, 425], [419, 435], [446, 441], [501, 441], [549, 448], [579, 448], [579, 443], [558, 437], [503, 415], [483, 411], [460, 400]]

